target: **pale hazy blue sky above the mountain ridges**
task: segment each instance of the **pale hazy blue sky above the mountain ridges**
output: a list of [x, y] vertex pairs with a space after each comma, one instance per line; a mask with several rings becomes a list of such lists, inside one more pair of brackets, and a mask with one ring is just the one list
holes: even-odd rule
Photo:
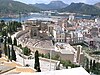
[[[20, 1], [27, 4], [35, 4], [35, 3], [49, 3], [50, 1], [54, 1], [54, 0], [15, 0], [15, 1]], [[61, 1], [67, 4], [70, 4], [72, 2], [75, 2], [75, 3], [83, 2], [87, 4], [95, 4], [97, 2], [100, 2], [100, 0], [61, 0]]]

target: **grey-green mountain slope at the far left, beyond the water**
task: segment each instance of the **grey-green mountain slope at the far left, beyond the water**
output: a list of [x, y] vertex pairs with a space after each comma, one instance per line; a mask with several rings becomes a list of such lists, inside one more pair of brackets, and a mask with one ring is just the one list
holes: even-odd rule
[[13, 0], [0, 0], [0, 13], [27, 13], [39, 11], [37, 7]]

